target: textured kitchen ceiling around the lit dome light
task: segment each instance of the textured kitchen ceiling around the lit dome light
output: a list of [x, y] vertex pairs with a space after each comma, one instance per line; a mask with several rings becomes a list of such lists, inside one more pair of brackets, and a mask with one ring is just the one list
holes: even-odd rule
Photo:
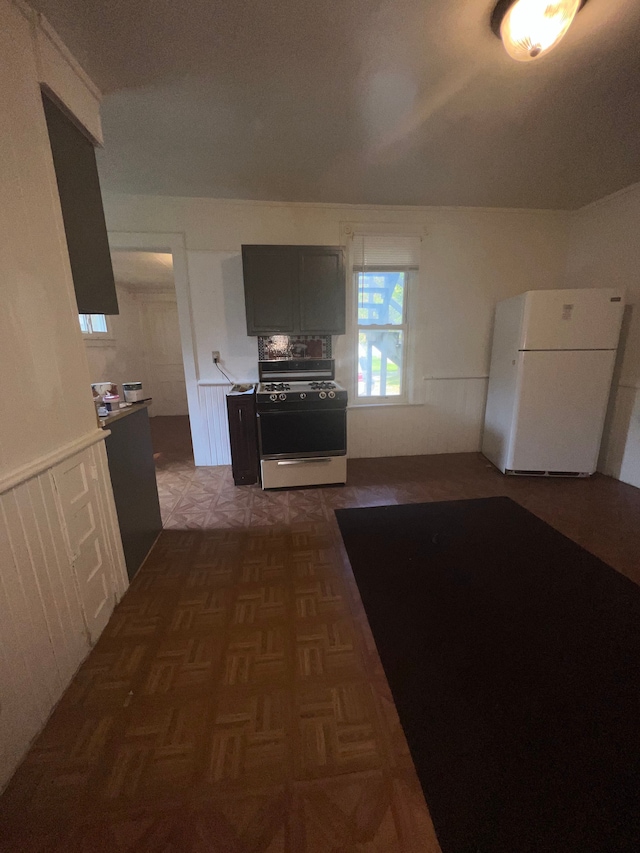
[[33, 0], [105, 92], [103, 187], [575, 208], [640, 180], [640, 2], [537, 62], [489, 0]]

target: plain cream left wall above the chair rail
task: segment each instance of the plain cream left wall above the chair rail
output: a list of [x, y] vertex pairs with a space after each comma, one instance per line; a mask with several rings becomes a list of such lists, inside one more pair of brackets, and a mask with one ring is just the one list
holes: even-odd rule
[[8, 0], [0, 15], [2, 481], [95, 430], [96, 418], [31, 26]]

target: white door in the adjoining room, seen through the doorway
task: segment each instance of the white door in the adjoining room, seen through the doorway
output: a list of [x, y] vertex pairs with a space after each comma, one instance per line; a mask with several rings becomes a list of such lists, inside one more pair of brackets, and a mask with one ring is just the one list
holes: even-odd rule
[[187, 386], [175, 297], [145, 295], [140, 308], [148, 377], [145, 390], [153, 397], [150, 414], [186, 415]]

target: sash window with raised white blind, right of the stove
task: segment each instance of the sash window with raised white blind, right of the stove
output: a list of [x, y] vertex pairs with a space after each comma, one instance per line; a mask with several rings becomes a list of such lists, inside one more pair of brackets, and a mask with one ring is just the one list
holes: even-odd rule
[[417, 280], [420, 237], [355, 234], [356, 394], [366, 402], [407, 398], [408, 300]]

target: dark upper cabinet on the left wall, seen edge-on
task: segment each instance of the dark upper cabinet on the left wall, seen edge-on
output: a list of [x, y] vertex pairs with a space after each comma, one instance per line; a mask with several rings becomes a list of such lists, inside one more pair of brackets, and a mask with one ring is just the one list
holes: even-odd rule
[[42, 101], [78, 312], [117, 314], [118, 298], [93, 143], [45, 93]]

